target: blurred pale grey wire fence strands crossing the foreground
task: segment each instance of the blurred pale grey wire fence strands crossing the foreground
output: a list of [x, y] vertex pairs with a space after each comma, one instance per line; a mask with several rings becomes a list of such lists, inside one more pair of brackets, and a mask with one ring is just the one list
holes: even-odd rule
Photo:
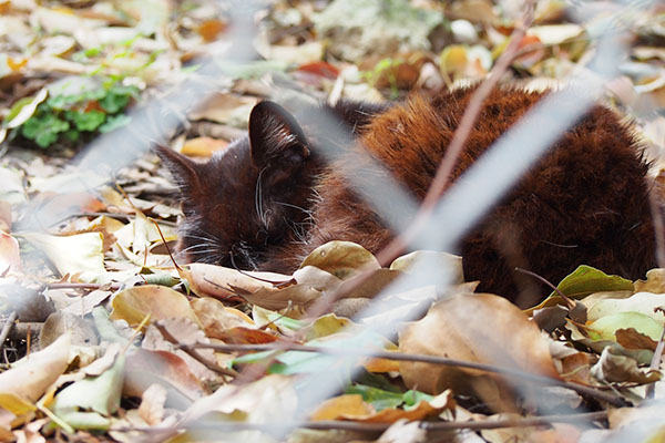
[[[424, 226], [410, 245], [411, 249], [436, 247], [450, 249], [490, 208], [510, 189], [521, 175], [571, 127], [575, 121], [595, 102], [603, 91], [603, 84], [616, 74], [621, 59], [626, 54], [624, 35], [618, 25], [625, 25], [626, 11], [633, 8], [648, 8], [653, 1], [631, 3], [624, 11], [596, 23], [592, 39], [596, 41], [595, 58], [586, 66], [581, 66], [571, 87], [554, 92], [543, 99], [528, 115], [504, 134], [477, 164], [471, 167], [456, 184], [450, 187], [438, 204], [434, 216]], [[178, 85], [177, 90], [166, 97], [147, 103], [132, 114], [132, 123], [124, 130], [115, 131], [92, 143], [79, 156], [82, 171], [95, 171], [96, 178], [81, 178], [72, 183], [66, 190], [86, 189], [99, 186], [100, 181], [133, 162], [139, 155], [150, 150], [154, 142], [163, 143], [173, 128], [183, 124], [184, 115], [215, 91], [218, 79], [232, 64], [242, 64], [254, 59], [252, 42], [255, 35], [254, 16], [260, 9], [258, 1], [238, 0], [232, 3], [229, 48], [219, 59], [204, 61], [197, 74]], [[604, 24], [603, 24], [604, 23]], [[617, 25], [618, 24], [618, 25]], [[320, 126], [327, 132], [327, 140], [337, 144], [350, 143], [347, 135], [339, 131], [336, 122], [323, 121]], [[338, 147], [329, 147], [327, 155], [334, 157]], [[367, 179], [349, 177], [361, 195], [385, 219], [392, 220], [395, 230], [403, 229], [412, 218], [417, 205], [399, 186], [386, 181], [386, 174], [377, 169], [368, 175], [377, 178], [371, 186]], [[65, 189], [62, 189], [65, 190]], [[397, 203], [396, 203], [397, 202]], [[396, 214], [396, 207], [399, 213]], [[397, 281], [374, 302], [356, 320], [370, 326], [374, 332], [390, 334], [398, 321], [411, 320], [421, 316], [422, 310], [399, 310], [391, 305], [390, 293], [398, 293], [415, 287], [436, 285], [444, 288], [450, 282], [450, 275], [440, 267], [420, 262], [412, 275]], [[398, 316], [399, 313], [399, 316]], [[369, 337], [355, 337], [352, 346], [357, 349], [369, 347], [374, 340]], [[357, 359], [357, 357], [351, 357]], [[499, 362], [500, 364], [501, 362]], [[348, 368], [337, 365], [337, 370], [321, 371], [299, 379], [297, 389], [303, 402], [301, 416], [294, 418], [298, 422], [305, 418], [310, 405], [319, 404], [324, 399], [337, 392], [341, 385], [340, 371]], [[520, 389], [519, 385], [515, 389]], [[532, 393], [533, 391], [529, 391]], [[542, 399], [535, 403], [546, 410]], [[278, 408], [278, 405], [274, 405]], [[185, 422], [185, 424], [187, 424]], [[195, 427], [196, 421], [188, 425]], [[283, 424], [275, 430], [286, 433]]]

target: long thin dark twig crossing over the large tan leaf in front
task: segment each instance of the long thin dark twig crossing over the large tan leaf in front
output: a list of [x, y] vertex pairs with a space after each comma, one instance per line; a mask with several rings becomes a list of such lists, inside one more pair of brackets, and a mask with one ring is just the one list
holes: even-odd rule
[[417, 361], [422, 363], [432, 363], [432, 364], [441, 364], [441, 365], [451, 365], [459, 368], [468, 368], [475, 369], [481, 371], [500, 373], [502, 375], [508, 375], [514, 379], [519, 379], [520, 381], [530, 381], [533, 383], [540, 383], [545, 385], [555, 385], [565, 389], [570, 389], [572, 391], [577, 392], [579, 394], [591, 396], [604, 402], [607, 402], [614, 406], [625, 406], [628, 404], [624, 399], [613, 395], [607, 392], [598, 391], [597, 389], [593, 389], [583, 384], [571, 383], [563, 380], [552, 379], [545, 375], [538, 375], [530, 372], [524, 372], [518, 369], [511, 368], [499, 368], [490, 364], [482, 363], [473, 363], [469, 361], [447, 359], [443, 357], [434, 357], [434, 356], [422, 356], [422, 354], [412, 354], [412, 353], [403, 353], [403, 352], [386, 352], [386, 351], [377, 351], [377, 352], [364, 352], [350, 349], [334, 349], [334, 348], [320, 348], [320, 347], [311, 347], [305, 344], [295, 344], [295, 343], [274, 343], [274, 344], [213, 344], [213, 343], [196, 343], [192, 346], [181, 344], [182, 349], [214, 349], [216, 351], [222, 352], [253, 352], [253, 351], [303, 351], [303, 352], [318, 352], [332, 356], [342, 356], [342, 357], [371, 357], [379, 358], [386, 360], [396, 360], [396, 361]]

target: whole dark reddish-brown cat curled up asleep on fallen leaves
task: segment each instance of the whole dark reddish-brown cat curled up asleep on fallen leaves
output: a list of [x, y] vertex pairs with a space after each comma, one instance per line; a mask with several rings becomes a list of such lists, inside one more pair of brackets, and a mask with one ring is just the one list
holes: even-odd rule
[[[391, 109], [368, 107], [369, 112], [359, 103], [328, 111], [359, 137], [360, 143], [347, 150], [361, 145], [421, 199], [472, 92], [415, 97]], [[540, 96], [494, 91], [483, 104], [453, 178]], [[304, 256], [332, 239], [380, 250], [393, 233], [340, 173], [344, 167], [362, 174], [359, 162], [351, 153], [332, 164], [324, 162], [316, 153], [316, 125], [306, 123], [303, 131], [275, 106], [259, 104], [250, 119], [249, 138], [207, 164], [195, 165], [161, 151], [183, 190], [181, 250], [190, 260], [228, 266], [233, 256], [237, 267], [277, 271], [293, 271]], [[304, 113], [306, 121], [310, 114], [316, 112]], [[280, 131], [266, 133], [266, 127]], [[515, 274], [515, 266], [553, 282], [581, 264], [632, 279], [643, 277], [655, 266], [646, 172], [630, 127], [610, 110], [593, 107], [463, 239], [460, 253], [467, 279], [480, 280], [479, 290], [526, 306], [549, 290]], [[269, 213], [263, 222], [254, 199], [257, 183], [264, 214]]]

